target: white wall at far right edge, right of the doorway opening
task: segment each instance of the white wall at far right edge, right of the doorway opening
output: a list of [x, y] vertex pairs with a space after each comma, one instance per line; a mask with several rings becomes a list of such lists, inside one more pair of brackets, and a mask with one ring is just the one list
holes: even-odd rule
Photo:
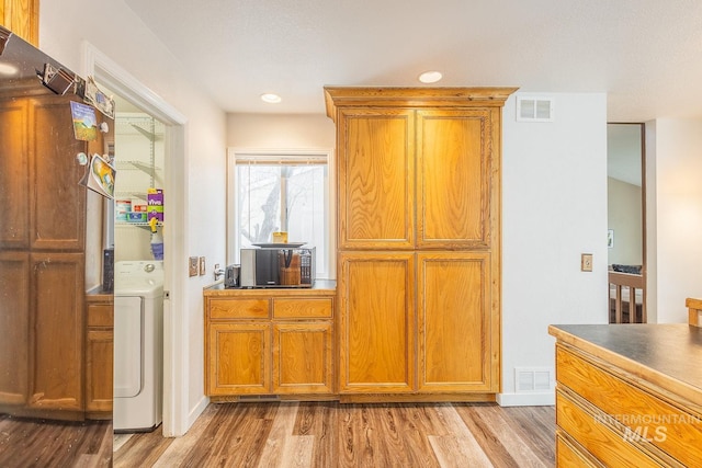
[[647, 219], [655, 222], [657, 247], [656, 270], [648, 262], [649, 272], [656, 272], [655, 307], [659, 323], [687, 322], [684, 299], [702, 298], [702, 118], [660, 118], [647, 133], [649, 127], [655, 130], [647, 155], [655, 155], [655, 174], [649, 174], [655, 198], [647, 206], [655, 209]]

